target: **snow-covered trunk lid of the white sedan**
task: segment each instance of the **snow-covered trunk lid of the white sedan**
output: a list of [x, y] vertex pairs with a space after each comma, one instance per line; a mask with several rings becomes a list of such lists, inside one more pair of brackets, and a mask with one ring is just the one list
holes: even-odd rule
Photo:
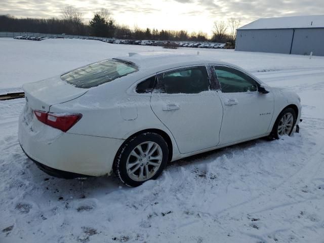
[[84, 95], [89, 89], [76, 88], [60, 76], [23, 85], [26, 104], [33, 110], [49, 111], [50, 106]]

